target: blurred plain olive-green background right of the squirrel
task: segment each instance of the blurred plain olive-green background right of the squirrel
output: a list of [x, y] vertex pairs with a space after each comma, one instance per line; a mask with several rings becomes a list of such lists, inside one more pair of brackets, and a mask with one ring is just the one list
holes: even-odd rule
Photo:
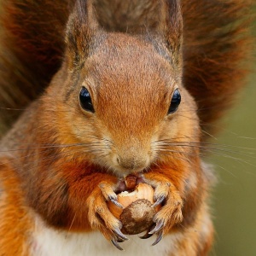
[[[216, 241], [212, 256], [256, 255], [256, 73], [213, 139], [218, 150], [207, 160], [218, 183], [212, 193]], [[227, 146], [229, 145], [229, 146]]]

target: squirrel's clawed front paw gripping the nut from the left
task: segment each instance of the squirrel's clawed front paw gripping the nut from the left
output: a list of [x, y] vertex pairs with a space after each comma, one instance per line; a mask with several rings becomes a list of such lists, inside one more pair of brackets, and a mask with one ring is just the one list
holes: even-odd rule
[[89, 207], [88, 218], [92, 228], [100, 230], [108, 241], [112, 241], [115, 247], [122, 250], [118, 242], [128, 240], [128, 238], [121, 232], [121, 222], [113, 217], [106, 203], [106, 201], [113, 201], [118, 207], [123, 207], [117, 201], [117, 195], [113, 191], [114, 187], [114, 184], [106, 182], [100, 183], [94, 189], [87, 200]]

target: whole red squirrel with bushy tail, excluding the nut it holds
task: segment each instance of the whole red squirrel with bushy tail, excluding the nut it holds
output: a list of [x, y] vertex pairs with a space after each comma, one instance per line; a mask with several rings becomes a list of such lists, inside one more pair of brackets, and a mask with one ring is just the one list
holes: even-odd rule
[[[0, 255], [207, 255], [201, 145], [243, 85], [248, 8], [2, 1], [1, 105], [26, 109], [2, 110]], [[127, 175], [161, 206], [143, 239], [108, 209]]]

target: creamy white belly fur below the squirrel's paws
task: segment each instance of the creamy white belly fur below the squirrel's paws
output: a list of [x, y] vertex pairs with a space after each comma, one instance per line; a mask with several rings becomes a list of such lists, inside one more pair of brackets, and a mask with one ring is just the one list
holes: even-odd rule
[[169, 235], [152, 247], [155, 236], [147, 240], [138, 236], [129, 238], [129, 241], [120, 243], [124, 251], [119, 251], [99, 232], [78, 234], [56, 231], [40, 222], [33, 237], [32, 256], [164, 256], [170, 255], [177, 242], [177, 235]]

